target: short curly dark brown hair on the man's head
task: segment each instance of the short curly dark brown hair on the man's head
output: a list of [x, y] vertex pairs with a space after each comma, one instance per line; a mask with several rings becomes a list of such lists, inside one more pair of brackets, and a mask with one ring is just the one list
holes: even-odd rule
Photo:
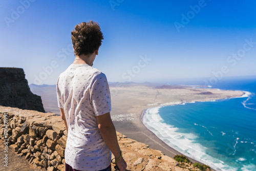
[[92, 20], [76, 25], [71, 35], [75, 55], [93, 53], [100, 47], [103, 39], [98, 23]]

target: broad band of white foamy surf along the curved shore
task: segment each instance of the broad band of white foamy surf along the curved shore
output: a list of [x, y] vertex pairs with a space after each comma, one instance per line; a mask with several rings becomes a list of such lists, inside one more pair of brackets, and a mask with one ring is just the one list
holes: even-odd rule
[[[175, 148], [180, 153], [205, 163], [216, 170], [237, 170], [236, 168], [225, 164], [223, 161], [209, 156], [206, 153], [207, 148], [196, 142], [196, 139], [198, 138], [197, 135], [192, 133], [180, 133], [177, 127], [163, 123], [164, 120], [159, 115], [160, 108], [161, 106], [147, 109], [144, 112], [142, 120], [147, 129], [151, 130], [159, 139], [164, 141], [170, 147]], [[195, 125], [198, 124], [195, 123]], [[201, 126], [206, 128], [203, 125]], [[236, 148], [236, 146], [234, 146], [234, 148]]]

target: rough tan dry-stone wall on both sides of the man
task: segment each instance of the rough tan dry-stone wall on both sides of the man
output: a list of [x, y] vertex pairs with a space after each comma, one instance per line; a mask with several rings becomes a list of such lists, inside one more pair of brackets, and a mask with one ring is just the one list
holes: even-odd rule
[[[4, 106], [0, 106], [0, 116], [0, 138], [8, 142], [7, 148], [15, 149], [19, 156], [25, 155], [35, 167], [65, 170], [67, 131], [60, 116]], [[188, 171], [180, 168], [174, 159], [147, 144], [118, 132], [117, 138], [127, 170]], [[115, 170], [113, 163], [112, 170]]]

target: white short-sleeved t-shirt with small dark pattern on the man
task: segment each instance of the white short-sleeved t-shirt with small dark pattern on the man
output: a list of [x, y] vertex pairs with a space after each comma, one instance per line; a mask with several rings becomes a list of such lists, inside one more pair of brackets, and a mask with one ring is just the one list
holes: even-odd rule
[[111, 111], [105, 74], [87, 64], [72, 64], [57, 81], [58, 107], [65, 112], [68, 139], [65, 162], [78, 170], [95, 171], [111, 164], [111, 152], [98, 129], [96, 116]]

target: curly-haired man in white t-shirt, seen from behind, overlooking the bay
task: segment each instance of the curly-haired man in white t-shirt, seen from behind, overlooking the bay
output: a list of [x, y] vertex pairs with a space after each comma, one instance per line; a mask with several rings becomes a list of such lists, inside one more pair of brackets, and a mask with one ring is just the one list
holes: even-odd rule
[[93, 68], [103, 36], [96, 22], [80, 23], [71, 32], [74, 62], [57, 80], [57, 99], [68, 139], [66, 171], [109, 171], [111, 152], [120, 171], [126, 168], [110, 117], [106, 76]]

